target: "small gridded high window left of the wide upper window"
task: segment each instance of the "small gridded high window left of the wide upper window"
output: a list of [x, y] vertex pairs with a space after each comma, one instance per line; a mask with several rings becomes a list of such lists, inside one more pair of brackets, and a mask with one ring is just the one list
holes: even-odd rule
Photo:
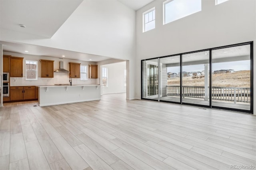
[[155, 28], [155, 8], [143, 13], [143, 32]]

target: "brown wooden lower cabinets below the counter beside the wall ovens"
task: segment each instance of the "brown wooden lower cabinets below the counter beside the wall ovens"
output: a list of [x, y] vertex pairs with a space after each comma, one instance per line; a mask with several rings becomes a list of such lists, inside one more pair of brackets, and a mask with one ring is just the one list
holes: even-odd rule
[[36, 86], [11, 86], [10, 101], [29, 100], [36, 98]]

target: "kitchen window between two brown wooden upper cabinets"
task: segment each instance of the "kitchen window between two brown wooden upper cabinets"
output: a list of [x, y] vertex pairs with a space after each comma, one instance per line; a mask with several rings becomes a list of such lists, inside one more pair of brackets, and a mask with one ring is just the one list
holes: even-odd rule
[[37, 80], [37, 61], [26, 60], [26, 80]]

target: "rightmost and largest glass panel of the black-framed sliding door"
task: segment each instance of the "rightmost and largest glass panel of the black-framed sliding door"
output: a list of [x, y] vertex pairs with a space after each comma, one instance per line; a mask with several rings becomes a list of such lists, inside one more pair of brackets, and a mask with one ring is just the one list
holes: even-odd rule
[[212, 50], [212, 106], [250, 110], [250, 45]]

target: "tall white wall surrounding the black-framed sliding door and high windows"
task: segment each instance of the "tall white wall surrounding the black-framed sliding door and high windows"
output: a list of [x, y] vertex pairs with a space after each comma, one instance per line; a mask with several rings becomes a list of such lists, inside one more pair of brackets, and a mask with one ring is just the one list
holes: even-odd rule
[[[141, 59], [256, 40], [255, 0], [229, 0], [217, 6], [215, 0], [202, 0], [202, 11], [163, 25], [164, 1], [155, 0], [136, 11], [136, 97], [140, 95]], [[156, 28], [143, 33], [142, 13], [153, 7]], [[255, 49], [254, 42], [254, 56]], [[254, 82], [255, 75], [254, 68]]]

